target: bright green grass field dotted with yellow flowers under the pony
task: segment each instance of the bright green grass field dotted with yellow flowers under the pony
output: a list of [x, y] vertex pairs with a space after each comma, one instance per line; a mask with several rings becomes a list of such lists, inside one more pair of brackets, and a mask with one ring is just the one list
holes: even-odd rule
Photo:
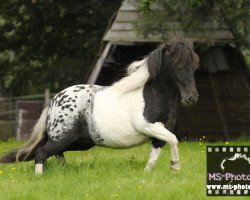
[[[0, 142], [0, 153], [20, 145]], [[67, 152], [67, 164], [52, 157], [45, 173], [34, 175], [34, 162], [0, 164], [0, 200], [7, 199], [215, 199], [206, 197], [205, 142], [181, 142], [182, 170], [169, 168], [170, 151], [166, 146], [152, 172], [144, 172], [150, 145], [127, 150], [96, 147], [85, 152]], [[209, 145], [225, 145], [213, 143]], [[250, 145], [230, 142], [226, 145]], [[216, 199], [239, 199], [217, 197]], [[240, 198], [243, 199], [243, 198]]]

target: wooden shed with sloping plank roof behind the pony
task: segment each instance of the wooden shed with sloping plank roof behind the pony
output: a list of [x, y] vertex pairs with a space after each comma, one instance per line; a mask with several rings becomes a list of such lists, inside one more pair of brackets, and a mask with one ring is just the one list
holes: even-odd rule
[[[155, 6], [153, 9], [159, 9]], [[192, 108], [178, 106], [176, 134], [182, 139], [230, 139], [250, 131], [250, 88], [247, 67], [235, 45], [235, 36], [214, 6], [207, 21], [194, 31], [186, 31], [179, 21], [166, 21], [165, 41], [159, 35], [145, 38], [135, 30], [139, 17], [139, 0], [125, 0], [108, 31], [88, 83], [110, 85], [124, 75], [126, 66], [141, 59], [159, 43], [175, 35], [193, 42], [201, 59], [196, 73], [198, 104]], [[214, 20], [216, 18], [216, 20]], [[199, 44], [210, 42], [205, 51]]]

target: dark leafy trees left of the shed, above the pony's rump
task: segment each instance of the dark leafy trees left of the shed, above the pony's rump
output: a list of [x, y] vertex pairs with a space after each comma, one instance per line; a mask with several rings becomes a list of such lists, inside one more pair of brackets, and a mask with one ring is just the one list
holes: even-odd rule
[[0, 77], [10, 95], [82, 83], [119, 0], [0, 3]]

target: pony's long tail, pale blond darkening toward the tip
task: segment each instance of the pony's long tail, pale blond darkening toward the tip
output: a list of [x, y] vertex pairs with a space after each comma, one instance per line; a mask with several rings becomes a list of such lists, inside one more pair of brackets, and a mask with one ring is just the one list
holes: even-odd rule
[[19, 161], [33, 160], [36, 149], [47, 141], [46, 121], [48, 115], [48, 106], [44, 108], [40, 118], [35, 124], [31, 137], [19, 149], [14, 149], [0, 158], [0, 163], [14, 163]]

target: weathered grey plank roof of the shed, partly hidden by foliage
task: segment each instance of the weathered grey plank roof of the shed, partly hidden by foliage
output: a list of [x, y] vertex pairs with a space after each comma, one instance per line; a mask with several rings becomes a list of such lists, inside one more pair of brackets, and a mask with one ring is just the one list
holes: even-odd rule
[[[159, 6], [154, 6], [154, 9], [161, 10]], [[104, 35], [103, 40], [111, 43], [129, 43], [129, 42], [162, 42], [161, 35], [151, 35], [145, 38], [135, 29], [135, 22], [140, 15], [139, 0], [125, 0], [113, 21], [111, 27]], [[215, 19], [216, 20], [213, 20]], [[165, 26], [168, 27], [167, 38], [178, 36], [184, 39], [189, 39], [193, 42], [211, 41], [211, 42], [234, 42], [229, 25], [224, 21], [224, 18], [218, 7], [213, 6], [210, 15], [207, 17], [200, 27], [195, 30], [185, 31], [180, 21], [166, 21]], [[166, 38], [166, 39], [167, 39]]]

